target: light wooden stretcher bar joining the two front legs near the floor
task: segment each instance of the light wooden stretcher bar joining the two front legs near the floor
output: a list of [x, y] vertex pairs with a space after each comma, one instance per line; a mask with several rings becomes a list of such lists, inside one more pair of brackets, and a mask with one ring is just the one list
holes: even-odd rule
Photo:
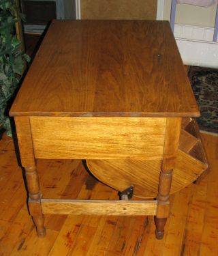
[[42, 211], [45, 214], [144, 216], [156, 214], [157, 201], [42, 199]]

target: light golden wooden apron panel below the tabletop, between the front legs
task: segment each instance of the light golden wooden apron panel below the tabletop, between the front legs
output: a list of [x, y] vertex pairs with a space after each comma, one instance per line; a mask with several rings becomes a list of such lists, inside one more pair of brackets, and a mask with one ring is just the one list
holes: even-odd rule
[[35, 158], [161, 159], [165, 117], [30, 117]]

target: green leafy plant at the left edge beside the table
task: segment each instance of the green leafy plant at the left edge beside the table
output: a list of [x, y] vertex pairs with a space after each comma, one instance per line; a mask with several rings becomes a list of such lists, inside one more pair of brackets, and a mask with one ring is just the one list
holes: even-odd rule
[[18, 22], [23, 18], [16, 0], [0, 0], [0, 126], [9, 136], [12, 131], [8, 108], [18, 89], [25, 61], [30, 60], [16, 33]]

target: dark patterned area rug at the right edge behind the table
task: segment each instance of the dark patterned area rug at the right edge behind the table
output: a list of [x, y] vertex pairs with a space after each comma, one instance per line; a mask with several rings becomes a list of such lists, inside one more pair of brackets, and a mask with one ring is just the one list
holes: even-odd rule
[[218, 134], [218, 70], [190, 66], [188, 76], [200, 107], [200, 130]]

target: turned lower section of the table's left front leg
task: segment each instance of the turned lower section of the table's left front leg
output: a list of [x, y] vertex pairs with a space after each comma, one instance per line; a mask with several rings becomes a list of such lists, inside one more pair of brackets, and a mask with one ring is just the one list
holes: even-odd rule
[[35, 167], [25, 167], [27, 186], [29, 191], [29, 210], [36, 226], [37, 236], [44, 237], [44, 215], [41, 208], [40, 184]]

